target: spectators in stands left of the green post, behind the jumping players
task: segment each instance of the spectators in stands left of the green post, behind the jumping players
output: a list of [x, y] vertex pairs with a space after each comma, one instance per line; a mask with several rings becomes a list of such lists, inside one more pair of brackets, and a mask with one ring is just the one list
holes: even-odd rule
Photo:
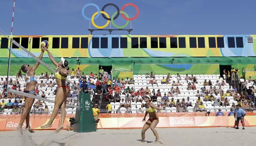
[[[75, 72], [73, 71], [74, 68], [72, 69], [70, 76], [67, 77], [68, 80], [80, 87], [83, 92], [90, 93], [91, 100], [93, 99], [94, 95], [100, 93], [100, 90], [98, 89], [101, 87], [101, 81], [98, 80], [97, 73], [93, 74], [93, 72], [90, 72], [88, 75], [86, 75], [79, 69], [79, 67]], [[0, 89], [0, 114], [21, 114], [25, 107], [25, 97], [10, 92], [7, 93], [6, 82], [6, 76], [1, 76], [0, 86], [2, 88]], [[37, 82], [35, 94], [42, 98], [47, 98], [54, 101], [58, 89], [54, 74], [48, 74], [47, 72], [45, 74], [41, 73], [39, 76], [37, 76]], [[67, 97], [67, 104], [76, 105], [80, 91], [74, 85], [70, 84], [70, 82], [67, 82], [67, 85], [70, 89], [70, 93]], [[24, 76], [23, 79], [17, 79], [15, 76], [10, 76], [8, 86], [12, 89], [23, 92], [26, 87]], [[30, 113], [51, 114], [53, 107], [54, 103], [48, 103], [36, 99]], [[67, 111], [71, 111], [70, 114], [74, 114], [75, 110], [75, 108], [72, 109], [67, 106]]]

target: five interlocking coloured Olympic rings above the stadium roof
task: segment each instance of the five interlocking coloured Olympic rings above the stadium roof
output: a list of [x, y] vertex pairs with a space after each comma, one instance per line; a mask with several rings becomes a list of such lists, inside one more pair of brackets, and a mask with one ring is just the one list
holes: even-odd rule
[[[93, 14], [93, 16], [91, 17], [91, 19], [88, 18], [87, 16], [85, 16], [85, 14], [84, 14], [84, 9], [85, 9], [86, 7], [88, 7], [88, 6], [90, 6], [90, 5], [91, 5], [91, 6], [94, 6], [95, 8], [97, 8], [97, 12], [95, 12], [95, 13]], [[128, 14], [123, 11], [124, 8], [127, 7], [127, 6], [129, 6], [129, 5], [135, 7], [135, 9], [136, 9], [136, 11], [137, 11], [137, 12], [136, 12], [136, 15], [135, 15], [133, 18], [129, 18]], [[114, 7], [117, 9], [117, 12], [115, 12], [115, 13], [111, 16], [111, 18], [109, 17], [109, 15], [108, 15], [106, 12], [104, 12], [104, 9], [105, 9], [107, 6], [114, 6]], [[123, 26], [117, 26], [117, 25], [114, 23], [114, 20], [118, 18], [118, 16], [120, 15], [120, 13], [121, 13], [122, 17], [123, 17], [125, 20], [127, 20], [127, 22], [126, 22]], [[103, 26], [97, 26], [97, 25], [94, 23], [94, 20], [97, 19], [100, 14], [102, 15], [102, 17], [103, 17], [104, 19], [107, 20], [107, 23], [106, 23], [105, 25], [103, 25]], [[99, 29], [105, 28], [105, 27], [108, 26], [109, 21], [111, 21], [111, 23], [113, 24], [114, 27], [121, 29], [121, 28], [126, 27], [126, 26], [129, 24], [129, 21], [135, 20], [135, 19], [139, 16], [139, 8], [138, 8], [135, 4], [128, 3], [128, 4], [123, 5], [123, 7], [122, 7], [122, 9], [121, 9], [121, 11], [120, 11], [120, 9], [117, 7], [116, 4], [109, 3], [109, 4], [104, 5], [104, 6], [102, 7], [101, 11], [100, 11], [98, 5], [96, 5], [96, 4], [94, 4], [94, 3], [89, 3], [89, 4], [84, 5], [84, 7], [83, 7], [83, 9], [82, 9], [82, 16], [83, 16], [84, 19], [91, 21], [91, 23], [93, 24], [93, 26], [96, 27], [96, 28], [99, 28]]]

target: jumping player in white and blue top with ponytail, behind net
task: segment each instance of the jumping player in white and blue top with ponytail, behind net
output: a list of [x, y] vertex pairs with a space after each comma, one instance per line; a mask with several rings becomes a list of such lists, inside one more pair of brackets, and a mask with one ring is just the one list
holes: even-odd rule
[[[45, 47], [42, 47], [41, 54], [38, 57], [39, 59], [42, 59], [44, 54], [44, 49]], [[35, 76], [35, 70], [38, 68], [39, 64], [40, 63], [38, 61], [35, 63], [33, 67], [28, 64], [23, 64], [19, 72], [17, 73], [17, 78], [22, 78], [21, 71], [26, 73], [26, 76], [25, 76], [26, 88], [24, 90], [25, 93], [35, 95], [35, 85], [37, 84], [37, 79], [36, 79], [37, 76]], [[22, 125], [25, 119], [26, 119], [26, 129], [29, 132], [34, 133], [34, 131], [30, 128], [30, 125], [29, 125], [30, 110], [34, 101], [35, 99], [33, 98], [25, 97], [25, 110], [20, 117], [19, 126], [17, 127], [17, 129], [20, 131], [20, 134], [23, 134]]]

